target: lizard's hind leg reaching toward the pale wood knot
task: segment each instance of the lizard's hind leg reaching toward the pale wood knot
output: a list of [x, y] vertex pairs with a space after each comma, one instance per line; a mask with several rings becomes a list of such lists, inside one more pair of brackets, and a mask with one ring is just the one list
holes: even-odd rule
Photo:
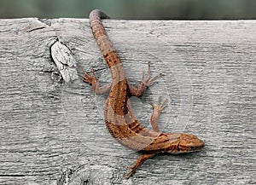
[[95, 72], [92, 69], [92, 76], [90, 76], [90, 74], [88, 72], [86, 72], [84, 70], [84, 68], [82, 66], [80, 66], [84, 72], [84, 76], [82, 76], [83, 81], [85, 83], [91, 84], [92, 85], [92, 89], [94, 90], [94, 92], [96, 93], [96, 95], [99, 94], [104, 94], [109, 92], [109, 90], [111, 89], [112, 83], [111, 84], [106, 84], [104, 86], [100, 86], [99, 80], [96, 78]]

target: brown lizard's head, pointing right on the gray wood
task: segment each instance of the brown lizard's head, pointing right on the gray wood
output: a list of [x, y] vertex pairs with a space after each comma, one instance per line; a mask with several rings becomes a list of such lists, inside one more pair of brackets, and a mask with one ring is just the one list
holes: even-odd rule
[[201, 150], [205, 143], [192, 134], [180, 133], [176, 135], [176, 146], [170, 147], [167, 153], [192, 153]]

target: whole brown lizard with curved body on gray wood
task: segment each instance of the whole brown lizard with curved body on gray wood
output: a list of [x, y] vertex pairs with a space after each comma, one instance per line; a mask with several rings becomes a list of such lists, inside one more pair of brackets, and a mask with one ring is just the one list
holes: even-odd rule
[[[112, 74], [112, 84], [100, 87], [99, 81], [92, 69], [92, 76], [84, 71], [83, 80], [92, 84], [96, 94], [102, 94], [110, 90], [108, 99], [104, 105], [104, 119], [110, 134], [122, 145], [133, 150], [141, 151], [143, 155], [137, 159], [131, 169], [125, 174], [129, 178], [143, 161], [152, 158], [158, 153], [190, 153], [200, 150], [205, 146], [197, 136], [185, 133], [162, 133], [157, 124], [160, 112], [166, 107], [166, 101], [156, 106], [152, 103], [154, 112], [150, 123], [153, 130], [145, 129], [132, 113], [129, 98], [132, 95], [141, 96], [147, 87], [154, 84], [154, 78], [150, 78], [150, 63], [148, 62], [148, 77], [143, 78], [138, 88], [129, 85], [125, 77], [125, 70], [119, 59], [119, 55], [113, 48], [108, 34], [102, 26], [102, 19], [108, 15], [101, 10], [95, 9], [90, 12], [90, 27], [96, 43], [102, 51], [102, 55], [108, 64]], [[84, 69], [83, 69], [84, 70]]]

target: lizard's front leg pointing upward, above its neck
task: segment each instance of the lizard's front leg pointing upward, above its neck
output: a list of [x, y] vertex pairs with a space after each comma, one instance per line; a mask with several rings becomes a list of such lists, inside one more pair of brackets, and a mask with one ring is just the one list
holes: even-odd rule
[[162, 110], [166, 107], [166, 100], [160, 103], [160, 97], [159, 97], [156, 106], [154, 106], [154, 103], [152, 103], [151, 106], [154, 108], [154, 112], [151, 115], [150, 124], [154, 131], [159, 132], [160, 130], [157, 123], [157, 119], [160, 117], [160, 113], [162, 112]]

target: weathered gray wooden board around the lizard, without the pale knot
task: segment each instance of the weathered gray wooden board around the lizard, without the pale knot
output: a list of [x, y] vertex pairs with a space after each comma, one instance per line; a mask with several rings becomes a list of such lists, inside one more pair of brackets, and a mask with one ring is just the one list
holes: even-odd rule
[[0, 20], [0, 184], [255, 183], [256, 21], [104, 25], [131, 83], [147, 72], [148, 61], [153, 74], [161, 73], [146, 95], [132, 98], [143, 125], [149, 103], [162, 95], [169, 101], [161, 129], [194, 133], [207, 146], [156, 156], [125, 180], [125, 167], [140, 154], [108, 134], [106, 95], [94, 95], [80, 80], [65, 84], [51, 58], [58, 38], [85, 70], [94, 67], [103, 83], [110, 82], [88, 20]]

